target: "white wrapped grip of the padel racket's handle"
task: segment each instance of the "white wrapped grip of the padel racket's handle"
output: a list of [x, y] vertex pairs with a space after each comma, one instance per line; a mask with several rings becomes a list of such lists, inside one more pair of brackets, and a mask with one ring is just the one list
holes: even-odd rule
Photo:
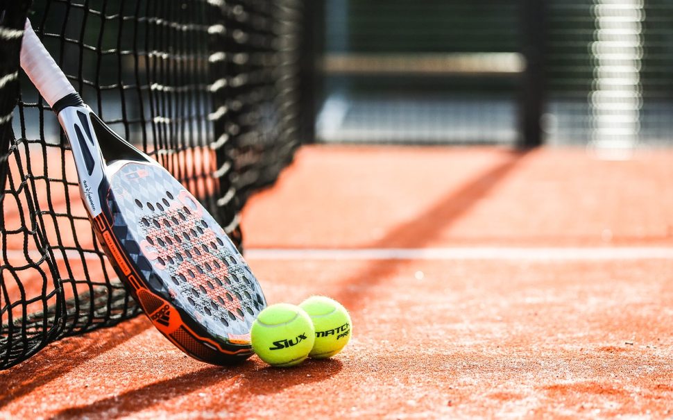
[[51, 107], [64, 96], [75, 93], [75, 88], [35, 35], [28, 19], [21, 45], [21, 67]]

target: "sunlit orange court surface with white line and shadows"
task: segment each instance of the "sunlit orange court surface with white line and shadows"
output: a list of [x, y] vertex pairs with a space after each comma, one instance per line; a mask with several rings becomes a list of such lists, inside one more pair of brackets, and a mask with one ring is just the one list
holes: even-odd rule
[[191, 360], [144, 317], [0, 372], [8, 419], [673, 419], [673, 151], [306, 146], [242, 215], [332, 360]]

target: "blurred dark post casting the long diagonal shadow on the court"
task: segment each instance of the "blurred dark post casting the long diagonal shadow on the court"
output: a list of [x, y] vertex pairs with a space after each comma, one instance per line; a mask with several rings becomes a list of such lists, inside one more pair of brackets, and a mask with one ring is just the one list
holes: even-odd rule
[[526, 67], [522, 74], [519, 103], [518, 146], [522, 149], [544, 142], [542, 116], [545, 108], [546, 0], [520, 0], [521, 53]]

